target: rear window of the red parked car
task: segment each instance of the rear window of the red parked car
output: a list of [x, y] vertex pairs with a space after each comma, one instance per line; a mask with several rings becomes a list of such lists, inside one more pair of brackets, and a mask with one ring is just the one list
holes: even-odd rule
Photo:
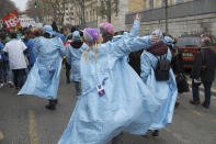
[[201, 46], [202, 40], [201, 37], [192, 37], [192, 36], [185, 36], [185, 37], [179, 37], [177, 46]]

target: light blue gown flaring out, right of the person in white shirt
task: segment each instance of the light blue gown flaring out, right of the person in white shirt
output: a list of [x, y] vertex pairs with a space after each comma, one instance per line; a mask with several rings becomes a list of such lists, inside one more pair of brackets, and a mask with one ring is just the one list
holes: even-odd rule
[[[36, 62], [19, 95], [34, 95], [45, 99], [56, 99], [66, 49], [58, 38], [38, 37], [34, 44]], [[53, 69], [53, 70], [50, 70]]]

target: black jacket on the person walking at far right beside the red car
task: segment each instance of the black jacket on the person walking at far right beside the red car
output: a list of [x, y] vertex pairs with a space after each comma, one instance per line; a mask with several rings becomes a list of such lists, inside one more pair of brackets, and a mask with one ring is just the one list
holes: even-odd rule
[[[202, 69], [202, 65], [206, 66], [204, 70]], [[214, 53], [209, 47], [204, 47], [196, 55], [191, 77], [192, 79], [201, 78], [204, 82], [212, 82], [215, 79], [215, 68], [216, 53]]]

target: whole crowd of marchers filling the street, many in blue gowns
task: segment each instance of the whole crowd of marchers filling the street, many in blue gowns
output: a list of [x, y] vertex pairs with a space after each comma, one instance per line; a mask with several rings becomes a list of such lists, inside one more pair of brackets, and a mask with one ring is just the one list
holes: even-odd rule
[[[55, 110], [64, 64], [67, 82], [73, 82], [79, 99], [58, 144], [117, 144], [123, 132], [158, 136], [172, 122], [178, 93], [189, 91], [189, 84], [178, 38], [159, 29], [138, 36], [139, 26], [137, 14], [130, 32], [123, 35], [114, 35], [107, 22], [84, 30], [59, 29], [55, 22], [43, 29], [2, 29], [0, 88], [10, 86], [18, 95], [47, 99], [45, 108]], [[203, 82], [206, 109], [216, 62], [209, 46], [203, 37], [191, 75], [190, 103], [200, 104]]]

